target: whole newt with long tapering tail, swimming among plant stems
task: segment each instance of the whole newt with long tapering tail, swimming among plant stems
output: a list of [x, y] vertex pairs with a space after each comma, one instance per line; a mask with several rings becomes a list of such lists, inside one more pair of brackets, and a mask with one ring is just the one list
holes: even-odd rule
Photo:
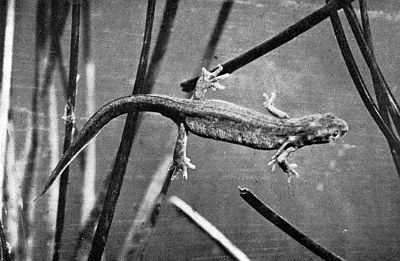
[[186, 156], [188, 133], [253, 149], [277, 150], [269, 164], [277, 163], [288, 173], [290, 181], [290, 175], [298, 176], [295, 164], [287, 161], [290, 153], [303, 146], [329, 143], [348, 131], [347, 123], [331, 113], [290, 118], [273, 106], [274, 94], [271, 98], [264, 94], [264, 105], [273, 116], [227, 101], [202, 99], [208, 89], [224, 89], [218, 81], [227, 74], [218, 76], [221, 71], [221, 66], [214, 72], [203, 68], [191, 99], [147, 94], [122, 97], [104, 105], [88, 120], [63, 154], [41, 195], [108, 122], [129, 112], [157, 112], [178, 125], [171, 168], [175, 171], [174, 176], [182, 173], [185, 178], [187, 169], [195, 168]]

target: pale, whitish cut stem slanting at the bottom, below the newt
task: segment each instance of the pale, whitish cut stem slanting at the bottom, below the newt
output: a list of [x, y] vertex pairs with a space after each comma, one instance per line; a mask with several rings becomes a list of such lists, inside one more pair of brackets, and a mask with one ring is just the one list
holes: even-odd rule
[[202, 217], [196, 212], [191, 206], [186, 204], [183, 200], [177, 196], [172, 196], [169, 201], [185, 216], [187, 216], [194, 224], [199, 226], [211, 239], [218, 243], [222, 247], [225, 253], [231, 256], [233, 259], [238, 261], [249, 261], [245, 253], [243, 253], [238, 247], [236, 247], [221, 231], [219, 231], [213, 224], [207, 219]]

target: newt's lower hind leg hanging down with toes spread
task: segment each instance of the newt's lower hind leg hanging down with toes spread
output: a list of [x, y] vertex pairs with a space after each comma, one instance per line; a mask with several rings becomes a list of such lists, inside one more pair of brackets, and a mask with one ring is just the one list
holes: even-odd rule
[[170, 169], [173, 169], [174, 173], [171, 177], [174, 180], [179, 174], [182, 173], [184, 179], [187, 179], [187, 169], [195, 169], [196, 166], [190, 163], [190, 159], [186, 157], [186, 145], [187, 145], [187, 132], [183, 123], [178, 124], [178, 137], [176, 139], [176, 145], [174, 149], [173, 163]]

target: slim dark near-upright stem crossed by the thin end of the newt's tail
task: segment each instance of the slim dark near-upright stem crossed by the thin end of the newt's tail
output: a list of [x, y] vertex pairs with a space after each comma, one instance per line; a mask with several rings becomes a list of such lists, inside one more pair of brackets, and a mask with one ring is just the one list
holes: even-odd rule
[[[80, 5], [81, 5], [80, 0], [73, 0], [69, 86], [67, 90], [67, 104], [65, 107], [66, 122], [65, 122], [64, 151], [68, 149], [69, 145], [72, 142], [74, 123], [75, 123], [75, 96], [76, 96], [78, 56], [79, 56]], [[59, 260], [59, 255], [60, 255], [59, 250], [61, 245], [61, 236], [64, 229], [68, 174], [69, 174], [69, 168], [65, 169], [60, 177], [60, 190], [58, 198], [53, 260]]]

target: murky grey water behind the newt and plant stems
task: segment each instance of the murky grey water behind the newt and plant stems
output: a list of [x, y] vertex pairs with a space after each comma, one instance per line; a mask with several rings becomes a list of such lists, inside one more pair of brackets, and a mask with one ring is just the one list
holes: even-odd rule
[[[320, 7], [324, 1], [235, 1], [213, 65], [231, 59], [270, 38]], [[372, 1], [369, 1], [372, 2]], [[222, 1], [181, 1], [154, 93], [183, 97], [179, 83], [191, 78], [200, 64]], [[143, 37], [146, 1], [96, 1], [92, 5], [93, 55], [96, 65], [97, 108], [131, 93]], [[164, 1], [157, 3], [153, 43]], [[375, 53], [387, 81], [400, 99], [400, 8], [397, 1], [371, 3]], [[31, 110], [34, 73], [35, 3], [17, 7], [13, 64], [16, 128], [23, 144], [26, 111]], [[343, 14], [341, 14], [342, 17]], [[345, 20], [343, 20], [345, 21]], [[349, 32], [346, 22], [346, 31]], [[63, 41], [68, 57], [70, 23]], [[348, 34], [353, 39], [351, 34]], [[358, 60], [361, 61], [353, 41]], [[368, 75], [365, 66], [364, 75]], [[82, 72], [83, 73], [83, 72]], [[400, 180], [383, 135], [368, 114], [349, 77], [326, 20], [283, 47], [234, 72], [223, 82], [225, 91], [207, 97], [263, 111], [263, 92], [278, 93], [276, 104], [292, 117], [332, 112], [349, 124], [348, 134], [335, 146], [311, 146], [292, 157], [300, 179], [290, 197], [286, 174], [266, 164], [273, 155], [191, 135], [188, 156], [196, 164], [189, 179], [172, 182], [177, 195], [253, 260], [318, 260], [251, 209], [237, 186], [247, 187], [279, 214], [313, 239], [347, 260], [400, 258]], [[79, 90], [79, 124], [85, 122]], [[63, 139], [60, 104], [60, 142]], [[29, 114], [28, 114], [29, 115]], [[123, 129], [114, 120], [97, 139], [98, 188], [113, 165]], [[42, 130], [46, 132], [46, 130]], [[157, 114], [146, 114], [134, 143], [124, 186], [107, 243], [114, 260], [124, 242], [148, 182], [165, 154], [173, 150], [176, 127]], [[62, 143], [61, 143], [62, 144]], [[20, 146], [20, 148], [21, 148]], [[47, 162], [42, 162], [45, 169]], [[134, 171], [135, 169], [135, 171]], [[48, 173], [43, 173], [43, 177]], [[79, 225], [80, 174], [70, 174], [63, 258], [73, 250]], [[41, 212], [39, 212], [40, 214]], [[38, 222], [38, 227], [44, 223]], [[40, 229], [38, 229], [40, 231]], [[40, 233], [39, 233], [40, 234]], [[37, 260], [46, 238], [35, 242]], [[145, 260], [224, 260], [225, 255], [203, 232], [169, 205], [161, 209]]]

